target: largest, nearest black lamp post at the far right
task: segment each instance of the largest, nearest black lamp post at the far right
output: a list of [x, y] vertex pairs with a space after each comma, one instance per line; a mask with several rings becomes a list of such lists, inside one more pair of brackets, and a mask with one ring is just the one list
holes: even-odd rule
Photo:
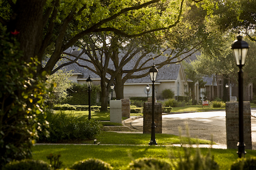
[[247, 52], [249, 49], [248, 43], [242, 40], [242, 36], [237, 36], [237, 40], [232, 44], [232, 52], [235, 58], [236, 65], [239, 67], [239, 142], [237, 143], [239, 157], [244, 157], [244, 131], [243, 131], [243, 71], [242, 67], [245, 64]]

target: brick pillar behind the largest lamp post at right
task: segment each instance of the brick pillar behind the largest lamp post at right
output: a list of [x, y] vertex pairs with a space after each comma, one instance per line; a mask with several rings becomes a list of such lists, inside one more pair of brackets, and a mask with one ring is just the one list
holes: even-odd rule
[[[244, 144], [245, 149], [252, 149], [251, 107], [249, 101], [243, 102]], [[237, 149], [239, 141], [239, 102], [226, 102], [227, 148]]]

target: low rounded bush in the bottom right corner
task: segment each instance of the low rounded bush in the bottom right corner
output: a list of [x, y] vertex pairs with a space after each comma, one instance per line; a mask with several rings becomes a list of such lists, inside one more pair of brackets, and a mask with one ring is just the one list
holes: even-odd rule
[[231, 170], [240, 170], [240, 169], [256, 169], [256, 158], [240, 158], [237, 159], [236, 162], [234, 162], [231, 165]]

